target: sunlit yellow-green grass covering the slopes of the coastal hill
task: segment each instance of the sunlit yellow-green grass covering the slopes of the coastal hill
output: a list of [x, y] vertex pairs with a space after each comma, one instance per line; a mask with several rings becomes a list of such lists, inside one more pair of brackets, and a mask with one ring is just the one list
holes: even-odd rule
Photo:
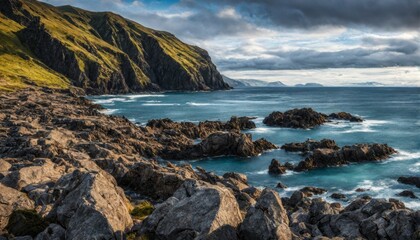
[[[209, 62], [196, 47], [185, 44], [174, 35], [144, 27], [110, 12], [90, 12], [71, 6], [54, 7], [35, 0], [21, 1], [18, 15], [38, 16], [46, 31], [65, 48], [74, 52], [77, 67], [88, 72], [92, 63], [100, 66], [98, 79], [109, 81], [121, 72], [124, 56], [135, 54], [128, 61], [136, 81], [141, 86], [151, 82], [146, 74], [148, 66], [141, 39], [146, 35], [156, 39], [163, 52], [182, 67], [191, 79], [197, 79], [199, 69]], [[39, 86], [66, 88], [70, 80], [49, 69], [19, 41], [16, 33], [24, 26], [0, 13], [0, 90], [22, 88], [27, 82]], [[126, 52], [122, 45], [131, 46]], [[138, 60], [138, 59], [136, 59]], [[5, 63], [5, 64], [3, 64]]]

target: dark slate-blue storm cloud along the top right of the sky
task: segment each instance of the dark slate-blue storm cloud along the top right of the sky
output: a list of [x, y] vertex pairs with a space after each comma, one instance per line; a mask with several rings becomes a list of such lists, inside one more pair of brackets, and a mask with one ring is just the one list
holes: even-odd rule
[[[419, 0], [214, 0], [236, 6], [257, 23], [290, 28], [367, 26], [420, 27]], [[197, 5], [195, 5], [197, 6]]]

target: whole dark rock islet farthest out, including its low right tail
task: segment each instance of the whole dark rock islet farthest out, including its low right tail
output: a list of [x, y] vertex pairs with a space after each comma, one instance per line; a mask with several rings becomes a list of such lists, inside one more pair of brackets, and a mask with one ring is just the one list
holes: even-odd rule
[[314, 111], [312, 108], [292, 109], [286, 112], [272, 112], [263, 123], [268, 126], [284, 128], [314, 128], [331, 120], [346, 120], [350, 122], [362, 122], [363, 119], [350, 113], [338, 112], [326, 115]]

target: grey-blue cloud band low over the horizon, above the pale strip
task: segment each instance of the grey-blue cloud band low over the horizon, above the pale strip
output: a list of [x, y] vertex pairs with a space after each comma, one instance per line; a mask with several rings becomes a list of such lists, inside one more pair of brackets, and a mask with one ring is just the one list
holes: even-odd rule
[[[366, 41], [379, 41], [366, 39]], [[392, 43], [389, 44], [389, 41]], [[395, 41], [395, 42], [393, 42]], [[372, 42], [372, 43], [373, 43]], [[418, 45], [410, 41], [388, 40], [383, 48], [353, 48], [342, 51], [315, 50], [266, 51], [265, 58], [217, 61], [222, 70], [287, 70], [319, 68], [376, 68], [392, 66], [419, 66]]]

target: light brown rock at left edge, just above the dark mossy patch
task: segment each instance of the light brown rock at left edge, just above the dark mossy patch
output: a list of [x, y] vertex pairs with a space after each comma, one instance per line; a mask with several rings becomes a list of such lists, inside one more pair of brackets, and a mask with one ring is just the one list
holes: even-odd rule
[[0, 183], [0, 234], [15, 210], [34, 209], [34, 203], [26, 194]]

